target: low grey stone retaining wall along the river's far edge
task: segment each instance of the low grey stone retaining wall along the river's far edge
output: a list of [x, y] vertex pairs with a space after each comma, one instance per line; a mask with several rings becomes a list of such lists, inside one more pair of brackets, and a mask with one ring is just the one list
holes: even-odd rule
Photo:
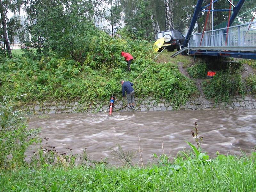
[[[166, 111], [174, 110], [173, 106], [165, 102], [164, 99], [156, 101], [152, 98], [147, 98], [146, 100], [136, 100], [135, 99], [135, 110], [136, 111]], [[127, 107], [122, 100], [115, 101], [114, 111], [132, 111]], [[28, 105], [27, 107], [22, 107], [25, 110], [32, 111], [34, 114], [52, 114], [52, 113], [76, 113], [76, 112], [87, 112], [87, 113], [97, 113], [97, 112], [107, 112], [108, 105], [97, 104], [96, 106], [88, 106], [78, 101], [74, 102], [44, 102], [35, 103]], [[245, 96], [244, 98], [238, 96], [230, 100], [230, 103], [219, 102], [216, 103], [214, 100], [207, 100], [204, 97], [198, 97], [191, 99], [186, 102], [185, 105], [180, 106], [180, 110], [204, 110], [204, 109], [236, 109], [236, 108], [246, 108], [253, 109], [256, 108], [256, 100], [252, 96]]]

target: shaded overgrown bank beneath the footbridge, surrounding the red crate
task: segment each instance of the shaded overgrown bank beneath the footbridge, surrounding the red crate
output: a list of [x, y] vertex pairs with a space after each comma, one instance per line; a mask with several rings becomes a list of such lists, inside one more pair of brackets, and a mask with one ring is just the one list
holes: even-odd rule
[[[228, 102], [232, 96], [252, 94], [255, 96], [255, 69], [250, 60], [232, 60], [223, 58], [201, 58], [187, 68], [189, 75], [201, 79], [204, 95], [208, 99]], [[246, 67], [248, 66], [248, 67]], [[250, 70], [248, 69], [250, 67]], [[248, 71], [247, 71], [248, 69]], [[207, 71], [215, 71], [212, 78], [206, 76]]]

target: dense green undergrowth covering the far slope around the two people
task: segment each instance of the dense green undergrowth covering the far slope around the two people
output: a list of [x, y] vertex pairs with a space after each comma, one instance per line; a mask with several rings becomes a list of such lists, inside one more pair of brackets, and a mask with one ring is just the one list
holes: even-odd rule
[[[40, 60], [28, 56], [1, 60], [0, 95], [25, 92], [27, 101], [80, 100], [88, 105], [107, 102], [113, 93], [121, 97], [120, 79], [133, 81], [148, 66], [134, 82], [136, 97], [165, 98], [178, 108], [196, 92], [194, 83], [180, 73], [176, 64], [152, 62], [153, 50], [148, 41], [112, 39], [99, 34], [91, 42], [92, 49], [83, 63], [53, 51]], [[126, 72], [121, 51], [135, 58], [130, 73]]]

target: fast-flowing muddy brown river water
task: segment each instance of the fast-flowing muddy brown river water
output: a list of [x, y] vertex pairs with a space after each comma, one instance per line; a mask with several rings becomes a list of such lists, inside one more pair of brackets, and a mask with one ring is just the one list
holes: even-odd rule
[[[199, 136], [203, 136], [201, 147], [210, 156], [220, 154], [239, 155], [241, 149], [251, 153], [256, 146], [256, 110], [201, 110], [201, 111], [152, 111], [108, 114], [52, 114], [34, 116], [29, 128], [41, 127], [41, 137], [47, 137], [47, 145], [62, 153], [66, 148], [73, 154], [87, 148], [91, 159], [108, 158], [115, 164], [110, 148], [116, 144], [124, 150], [140, 148], [143, 161], [152, 160], [153, 153], [175, 156], [186, 141], [196, 144], [191, 131], [197, 122]], [[45, 141], [43, 142], [45, 143]], [[28, 151], [31, 157], [33, 150]], [[140, 159], [135, 154], [134, 162]]]

